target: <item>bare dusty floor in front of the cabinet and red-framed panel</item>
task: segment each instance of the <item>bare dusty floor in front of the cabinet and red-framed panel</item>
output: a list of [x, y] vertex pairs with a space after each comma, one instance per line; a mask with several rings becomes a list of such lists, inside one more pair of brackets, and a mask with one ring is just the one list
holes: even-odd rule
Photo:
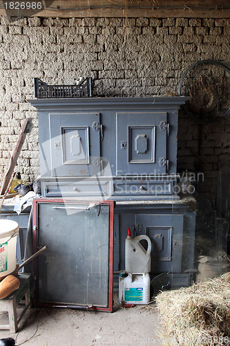
[[15, 338], [18, 346], [162, 345], [155, 304], [124, 309], [117, 295], [113, 313], [32, 308], [23, 320], [16, 334], [0, 330], [0, 338]]

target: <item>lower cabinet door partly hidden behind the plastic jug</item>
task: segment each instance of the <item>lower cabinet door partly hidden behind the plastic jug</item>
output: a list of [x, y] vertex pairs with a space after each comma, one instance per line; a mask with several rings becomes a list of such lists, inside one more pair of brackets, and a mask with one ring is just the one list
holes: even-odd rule
[[183, 215], [136, 214], [135, 224], [151, 239], [151, 272], [180, 272]]

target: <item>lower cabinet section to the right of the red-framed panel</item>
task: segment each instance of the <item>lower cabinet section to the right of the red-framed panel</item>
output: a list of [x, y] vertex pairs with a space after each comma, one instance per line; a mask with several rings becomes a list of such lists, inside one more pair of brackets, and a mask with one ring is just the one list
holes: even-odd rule
[[[114, 277], [125, 268], [125, 239], [131, 228], [133, 237], [151, 239], [151, 279], [162, 286], [189, 286], [194, 274], [195, 203], [124, 203], [115, 206]], [[146, 242], [143, 241], [142, 246]]]

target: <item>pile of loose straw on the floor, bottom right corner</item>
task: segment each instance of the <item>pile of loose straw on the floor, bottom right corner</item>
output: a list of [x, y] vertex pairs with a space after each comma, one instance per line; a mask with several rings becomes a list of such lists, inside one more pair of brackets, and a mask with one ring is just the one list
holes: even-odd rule
[[156, 300], [164, 345], [230, 345], [230, 272]]

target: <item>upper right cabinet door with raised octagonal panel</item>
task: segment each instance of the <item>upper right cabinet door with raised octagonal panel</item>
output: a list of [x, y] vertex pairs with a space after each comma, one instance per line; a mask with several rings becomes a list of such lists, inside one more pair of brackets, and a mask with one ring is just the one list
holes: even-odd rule
[[164, 174], [166, 112], [117, 113], [117, 175]]

